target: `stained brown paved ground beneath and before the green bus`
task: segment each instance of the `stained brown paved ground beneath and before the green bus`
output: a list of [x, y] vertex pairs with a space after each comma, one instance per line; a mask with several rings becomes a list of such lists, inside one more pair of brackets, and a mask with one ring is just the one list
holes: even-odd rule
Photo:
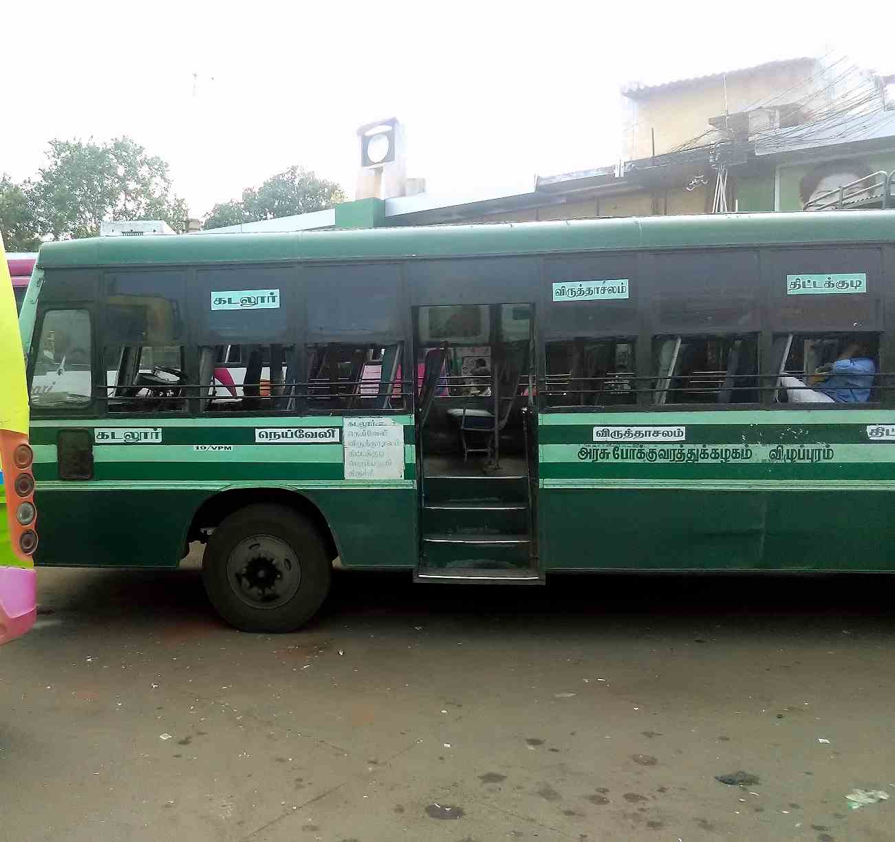
[[342, 574], [283, 636], [220, 625], [195, 569], [39, 581], [0, 651], [0, 838], [895, 838], [879, 578]]

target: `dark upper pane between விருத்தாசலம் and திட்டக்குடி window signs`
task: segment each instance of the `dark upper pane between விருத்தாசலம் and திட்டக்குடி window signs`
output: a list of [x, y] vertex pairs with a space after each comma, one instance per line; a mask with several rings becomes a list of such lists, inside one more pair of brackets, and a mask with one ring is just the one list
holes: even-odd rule
[[652, 319], [662, 331], [758, 328], [757, 252], [654, 253], [645, 262]]

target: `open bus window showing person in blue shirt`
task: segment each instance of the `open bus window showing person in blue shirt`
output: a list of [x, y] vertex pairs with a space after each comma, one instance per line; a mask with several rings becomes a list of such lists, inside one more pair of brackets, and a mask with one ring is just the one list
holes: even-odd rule
[[[791, 336], [790, 349], [792, 344]], [[814, 373], [802, 378], [782, 374], [780, 387], [790, 404], [864, 404], [870, 400], [876, 375], [875, 337], [855, 334], [804, 339], [803, 366]], [[790, 350], [788, 356], [792, 356]], [[835, 354], [835, 356], [833, 356]], [[813, 364], [820, 361], [820, 364]]]

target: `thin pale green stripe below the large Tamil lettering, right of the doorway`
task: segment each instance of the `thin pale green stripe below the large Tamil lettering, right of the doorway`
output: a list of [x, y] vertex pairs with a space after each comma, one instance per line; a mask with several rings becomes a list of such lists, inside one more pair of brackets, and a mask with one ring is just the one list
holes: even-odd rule
[[541, 480], [541, 489], [693, 491], [895, 491], [895, 480]]

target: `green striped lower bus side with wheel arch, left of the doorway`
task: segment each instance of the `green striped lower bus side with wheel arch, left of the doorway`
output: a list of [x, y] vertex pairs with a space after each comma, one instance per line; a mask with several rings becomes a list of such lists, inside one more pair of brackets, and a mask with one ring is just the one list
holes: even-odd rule
[[[38, 564], [176, 566], [193, 515], [214, 494], [285, 489], [320, 509], [344, 566], [413, 567], [416, 450], [410, 419], [397, 423], [404, 428], [403, 477], [346, 481], [341, 435], [312, 444], [256, 441], [256, 430], [279, 441], [282, 428], [341, 428], [333, 416], [38, 421], [31, 438], [38, 506], [47, 513]], [[86, 428], [95, 439], [92, 479], [61, 479], [57, 442], [66, 428]], [[134, 443], [97, 443], [125, 433]]]

